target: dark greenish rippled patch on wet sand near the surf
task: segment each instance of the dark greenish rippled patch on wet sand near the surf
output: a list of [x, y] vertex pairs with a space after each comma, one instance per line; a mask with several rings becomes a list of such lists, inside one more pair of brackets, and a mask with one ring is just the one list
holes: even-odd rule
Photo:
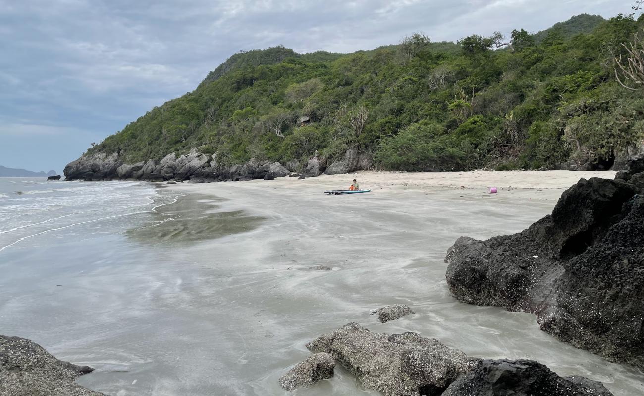
[[138, 241], [202, 241], [256, 229], [264, 220], [244, 211], [220, 212], [223, 200], [210, 195], [180, 196], [176, 203], [151, 212], [146, 225], [129, 229]]

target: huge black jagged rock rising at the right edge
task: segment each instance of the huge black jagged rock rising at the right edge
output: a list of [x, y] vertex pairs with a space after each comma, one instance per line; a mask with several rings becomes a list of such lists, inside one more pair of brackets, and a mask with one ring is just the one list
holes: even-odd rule
[[459, 238], [445, 260], [453, 296], [531, 312], [562, 341], [644, 370], [640, 165], [620, 180], [580, 180], [518, 234]]

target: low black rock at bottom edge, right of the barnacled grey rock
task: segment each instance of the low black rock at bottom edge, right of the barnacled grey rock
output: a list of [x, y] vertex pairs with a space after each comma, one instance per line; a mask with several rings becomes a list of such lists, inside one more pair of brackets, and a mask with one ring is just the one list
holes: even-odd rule
[[442, 396], [612, 396], [601, 382], [560, 377], [529, 361], [483, 361], [480, 367], [452, 382]]

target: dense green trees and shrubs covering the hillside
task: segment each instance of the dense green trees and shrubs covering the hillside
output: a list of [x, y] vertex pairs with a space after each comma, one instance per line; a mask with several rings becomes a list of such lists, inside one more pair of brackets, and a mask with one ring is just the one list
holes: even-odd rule
[[518, 29], [513, 50], [493, 50], [498, 36], [414, 34], [347, 55], [238, 53], [89, 152], [137, 162], [198, 148], [239, 164], [354, 147], [384, 169], [419, 171], [610, 163], [644, 137], [644, 95], [618, 84], [611, 56], [641, 19], [579, 15], [543, 37]]

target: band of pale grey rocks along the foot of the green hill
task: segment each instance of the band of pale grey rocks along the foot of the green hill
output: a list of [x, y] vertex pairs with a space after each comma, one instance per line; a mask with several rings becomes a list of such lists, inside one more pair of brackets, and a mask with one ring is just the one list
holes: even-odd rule
[[[371, 161], [355, 150], [347, 151], [345, 160], [335, 162], [332, 174], [348, 173], [369, 169]], [[216, 155], [208, 156], [191, 151], [188, 155], [166, 155], [158, 163], [153, 160], [127, 164], [117, 153], [106, 156], [104, 153], [84, 155], [65, 167], [67, 180], [191, 180], [191, 182], [222, 182], [228, 180], [269, 179], [288, 176], [290, 170], [298, 168], [299, 162], [290, 161], [287, 166], [279, 162], [258, 162], [251, 159], [243, 165], [225, 166], [218, 164]], [[327, 169], [317, 157], [308, 160], [303, 168], [306, 177], [319, 176]]]

